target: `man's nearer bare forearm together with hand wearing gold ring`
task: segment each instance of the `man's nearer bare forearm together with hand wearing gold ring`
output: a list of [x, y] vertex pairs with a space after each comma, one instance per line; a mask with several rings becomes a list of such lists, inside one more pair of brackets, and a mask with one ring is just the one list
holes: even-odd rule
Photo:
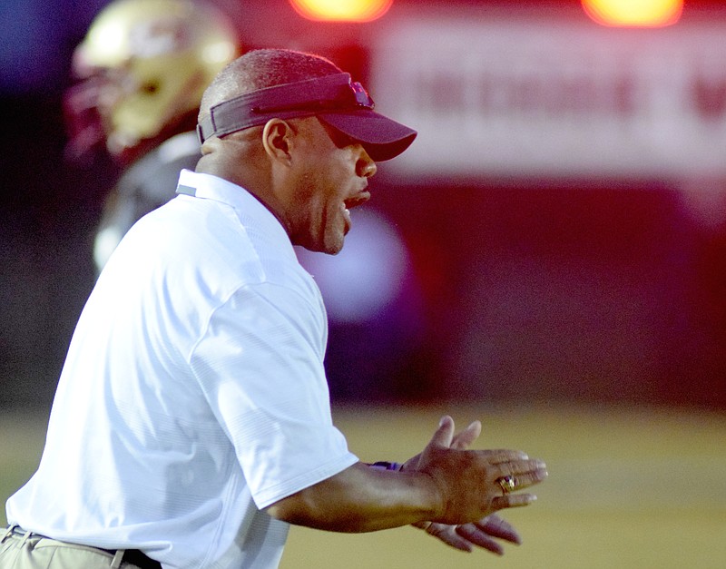
[[[475, 429], [477, 430], [477, 429]], [[474, 433], [474, 431], [472, 431]], [[451, 448], [454, 421], [443, 417], [424, 452], [402, 471], [362, 463], [270, 505], [267, 512], [290, 524], [335, 532], [372, 532], [417, 522], [468, 524], [535, 496], [512, 493], [547, 476], [541, 460], [517, 450]]]

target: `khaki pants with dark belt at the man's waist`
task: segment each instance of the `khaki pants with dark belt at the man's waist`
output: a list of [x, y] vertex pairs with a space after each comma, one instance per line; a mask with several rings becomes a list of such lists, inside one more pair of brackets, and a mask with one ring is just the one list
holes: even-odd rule
[[110, 554], [13, 528], [0, 538], [0, 569], [138, 569], [122, 563], [123, 549]]

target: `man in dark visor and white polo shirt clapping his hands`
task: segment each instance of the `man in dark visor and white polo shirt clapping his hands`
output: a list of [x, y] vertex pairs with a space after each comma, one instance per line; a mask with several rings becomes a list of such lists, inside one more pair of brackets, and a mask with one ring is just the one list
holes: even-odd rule
[[544, 479], [541, 461], [462, 450], [479, 423], [455, 436], [444, 417], [403, 468], [369, 466], [330, 417], [325, 309], [293, 245], [341, 250], [374, 161], [416, 132], [286, 50], [222, 70], [198, 130], [196, 172], [124, 237], [83, 309], [0, 564], [275, 567], [289, 524], [515, 540], [485, 518], [532, 501], [512, 491]]

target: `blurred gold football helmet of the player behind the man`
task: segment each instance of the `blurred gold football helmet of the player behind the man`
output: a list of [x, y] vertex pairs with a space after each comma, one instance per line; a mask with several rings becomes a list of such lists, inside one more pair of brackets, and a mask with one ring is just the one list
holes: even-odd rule
[[115, 0], [74, 52], [81, 83], [66, 97], [71, 153], [105, 142], [127, 162], [124, 153], [196, 113], [201, 93], [238, 50], [237, 31], [212, 5]]

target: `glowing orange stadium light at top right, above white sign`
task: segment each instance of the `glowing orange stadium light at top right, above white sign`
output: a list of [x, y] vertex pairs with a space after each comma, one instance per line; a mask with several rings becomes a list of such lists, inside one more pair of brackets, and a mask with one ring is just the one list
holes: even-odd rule
[[681, 18], [683, 0], [582, 0], [584, 11], [602, 25], [662, 27]]

